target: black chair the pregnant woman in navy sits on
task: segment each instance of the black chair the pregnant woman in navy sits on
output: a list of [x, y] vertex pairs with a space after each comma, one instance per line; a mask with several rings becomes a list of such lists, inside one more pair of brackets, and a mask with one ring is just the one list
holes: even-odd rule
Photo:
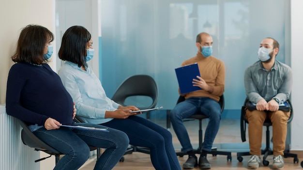
[[[16, 119], [19, 124], [22, 127], [22, 131], [21, 131], [21, 139], [22, 142], [31, 147], [34, 148], [35, 151], [43, 151], [47, 154], [49, 154], [50, 156], [54, 155], [55, 156], [55, 164], [58, 163], [59, 159], [60, 159], [60, 155], [63, 155], [61, 152], [59, 152], [58, 150], [56, 150], [55, 148], [49, 146], [48, 144], [46, 144], [45, 142], [41, 141], [39, 138], [37, 138], [28, 128], [28, 126], [26, 125], [26, 123], [22, 120]], [[90, 150], [95, 150], [98, 149], [97, 147], [92, 147], [90, 146]], [[39, 162], [42, 161], [46, 158], [49, 158], [50, 156], [41, 158], [41, 159], [37, 159], [35, 160], [35, 162]]]

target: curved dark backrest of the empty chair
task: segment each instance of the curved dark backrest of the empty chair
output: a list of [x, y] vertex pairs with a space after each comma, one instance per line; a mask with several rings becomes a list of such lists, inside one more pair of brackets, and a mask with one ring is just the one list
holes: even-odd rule
[[146, 96], [152, 98], [149, 106], [140, 106], [139, 109], [154, 108], [158, 101], [158, 88], [154, 79], [149, 75], [134, 75], [127, 78], [117, 89], [112, 100], [126, 106], [125, 99], [133, 96]]

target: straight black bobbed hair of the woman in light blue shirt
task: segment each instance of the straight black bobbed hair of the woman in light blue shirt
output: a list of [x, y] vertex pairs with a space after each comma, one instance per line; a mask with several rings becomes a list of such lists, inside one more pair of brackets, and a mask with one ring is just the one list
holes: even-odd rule
[[79, 67], [87, 67], [86, 56], [87, 42], [91, 40], [91, 33], [82, 26], [68, 28], [61, 42], [58, 56], [61, 60], [67, 60], [77, 64]]

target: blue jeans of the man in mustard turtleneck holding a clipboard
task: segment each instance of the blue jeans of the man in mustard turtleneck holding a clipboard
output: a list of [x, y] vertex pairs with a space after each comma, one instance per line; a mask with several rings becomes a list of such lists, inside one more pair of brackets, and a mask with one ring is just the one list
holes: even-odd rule
[[198, 111], [209, 117], [209, 123], [205, 130], [202, 149], [205, 151], [211, 151], [212, 143], [219, 130], [221, 119], [221, 107], [216, 100], [192, 97], [178, 103], [170, 112], [171, 124], [182, 145], [182, 151], [184, 152], [193, 150], [193, 146], [190, 142], [182, 119], [195, 114]]

